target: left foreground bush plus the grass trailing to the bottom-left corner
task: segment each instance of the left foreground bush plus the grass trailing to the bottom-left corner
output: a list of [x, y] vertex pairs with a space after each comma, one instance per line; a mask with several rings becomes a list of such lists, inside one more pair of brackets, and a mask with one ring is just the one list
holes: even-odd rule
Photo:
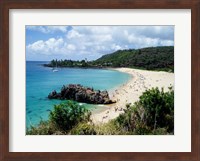
[[77, 126], [80, 122], [90, 121], [91, 112], [78, 103], [68, 101], [55, 105], [49, 114], [48, 121], [41, 121], [38, 126], [27, 129], [27, 135], [62, 135]]

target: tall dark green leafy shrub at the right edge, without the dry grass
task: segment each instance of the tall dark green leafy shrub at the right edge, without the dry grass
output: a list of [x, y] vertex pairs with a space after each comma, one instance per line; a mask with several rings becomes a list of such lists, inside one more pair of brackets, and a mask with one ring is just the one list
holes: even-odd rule
[[147, 126], [156, 129], [167, 127], [168, 131], [174, 129], [174, 91], [168, 92], [153, 88], [140, 96], [139, 104], [145, 109]]

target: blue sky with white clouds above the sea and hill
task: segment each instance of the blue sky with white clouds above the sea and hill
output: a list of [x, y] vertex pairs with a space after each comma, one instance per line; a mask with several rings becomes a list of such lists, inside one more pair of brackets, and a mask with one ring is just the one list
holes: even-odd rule
[[173, 45], [174, 26], [26, 26], [26, 60], [95, 60], [116, 50]]

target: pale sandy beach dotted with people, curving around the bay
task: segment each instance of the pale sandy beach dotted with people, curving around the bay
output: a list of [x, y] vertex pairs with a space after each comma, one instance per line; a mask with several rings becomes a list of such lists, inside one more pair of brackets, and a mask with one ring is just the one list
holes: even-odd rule
[[[132, 75], [132, 79], [114, 91], [109, 91], [111, 99], [117, 102], [107, 105], [105, 110], [100, 113], [92, 113], [94, 124], [106, 123], [123, 113], [127, 103], [133, 104], [139, 100], [139, 96], [147, 89], [152, 87], [163, 87], [165, 91], [170, 85], [174, 86], [174, 73], [147, 71], [130, 68], [116, 68], [120, 72]], [[101, 108], [101, 107], [99, 107]]]

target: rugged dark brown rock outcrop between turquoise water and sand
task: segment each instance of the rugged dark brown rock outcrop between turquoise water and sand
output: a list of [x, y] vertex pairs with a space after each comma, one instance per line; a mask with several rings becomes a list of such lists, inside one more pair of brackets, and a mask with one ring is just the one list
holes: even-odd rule
[[68, 99], [77, 102], [91, 104], [111, 104], [115, 101], [110, 100], [107, 91], [94, 90], [93, 88], [83, 87], [80, 84], [69, 84], [61, 88], [60, 93], [55, 90], [48, 95], [49, 99]]

